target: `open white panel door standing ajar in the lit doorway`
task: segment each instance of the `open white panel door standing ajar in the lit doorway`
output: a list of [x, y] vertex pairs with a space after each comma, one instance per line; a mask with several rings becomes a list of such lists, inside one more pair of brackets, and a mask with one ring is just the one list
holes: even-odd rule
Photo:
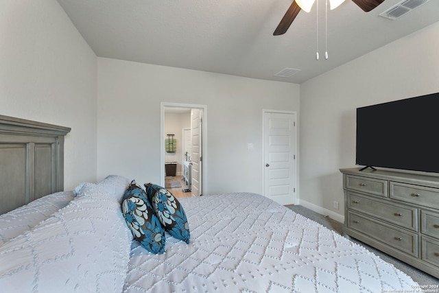
[[192, 196], [202, 192], [202, 110], [191, 110]]

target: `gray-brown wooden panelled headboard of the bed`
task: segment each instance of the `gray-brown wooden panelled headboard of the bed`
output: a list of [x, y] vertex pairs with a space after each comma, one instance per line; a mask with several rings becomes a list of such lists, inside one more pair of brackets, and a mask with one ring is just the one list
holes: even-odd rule
[[64, 189], [70, 130], [0, 115], [0, 214]]

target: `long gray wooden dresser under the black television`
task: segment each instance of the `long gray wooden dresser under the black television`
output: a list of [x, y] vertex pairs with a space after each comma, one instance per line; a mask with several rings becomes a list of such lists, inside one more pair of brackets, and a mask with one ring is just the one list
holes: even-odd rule
[[439, 177], [340, 172], [344, 233], [439, 278]]

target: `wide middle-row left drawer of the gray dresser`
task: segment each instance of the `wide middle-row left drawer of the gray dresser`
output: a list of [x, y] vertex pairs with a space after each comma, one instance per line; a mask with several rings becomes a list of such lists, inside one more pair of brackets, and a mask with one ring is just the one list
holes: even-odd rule
[[401, 204], [385, 203], [383, 200], [368, 198], [351, 191], [348, 191], [347, 205], [348, 209], [367, 213], [403, 228], [418, 231], [418, 209], [416, 208], [405, 207]]

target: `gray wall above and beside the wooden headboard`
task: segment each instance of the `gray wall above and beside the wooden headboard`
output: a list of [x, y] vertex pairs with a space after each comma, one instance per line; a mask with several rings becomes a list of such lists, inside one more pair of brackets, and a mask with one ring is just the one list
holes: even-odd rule
[[96, 180], [97, 61], [57, 1], [0, 1], [0, 115], [72, 128], [64, 188]]

